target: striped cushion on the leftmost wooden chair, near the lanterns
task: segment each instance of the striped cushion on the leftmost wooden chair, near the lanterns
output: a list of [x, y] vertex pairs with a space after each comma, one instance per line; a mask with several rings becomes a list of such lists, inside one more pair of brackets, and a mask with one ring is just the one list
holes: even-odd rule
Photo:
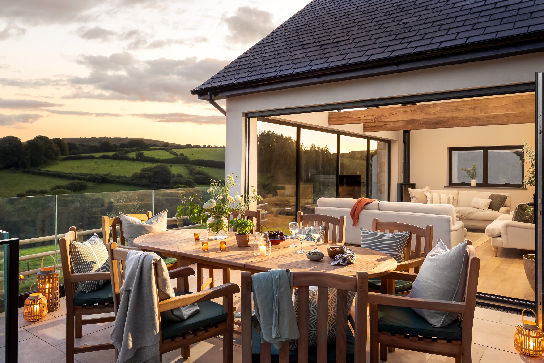
[[[87, 242], [70, 243], [70, 260], [75, 273], [109, 272], [108, 250], [102, 240], [92, 235]], [[79, 282], [81, 290], [92, 292], [100, 288], [108, 280]]]

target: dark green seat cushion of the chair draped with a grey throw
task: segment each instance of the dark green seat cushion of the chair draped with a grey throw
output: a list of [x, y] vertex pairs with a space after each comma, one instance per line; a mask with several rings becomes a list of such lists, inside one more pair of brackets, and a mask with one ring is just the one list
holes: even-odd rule
[[[191, 292], [176, 291], [176, 296], [190, 294]], [[186, 331], [205, 327], [206, 325], [219, 323], [227, 319], [227, 313], [223, 306], [210, 300], [197, 303], [200, 311], [181, 322], [163, 321], [163, 339], [176, 336]]]

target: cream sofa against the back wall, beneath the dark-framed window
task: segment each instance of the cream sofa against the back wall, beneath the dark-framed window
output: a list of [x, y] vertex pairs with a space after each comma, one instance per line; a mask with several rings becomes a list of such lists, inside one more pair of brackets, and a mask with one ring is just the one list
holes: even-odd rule
[[[510, 213], [510, 206], [512, 204], [512, 197], [509, 193], [496, 193], [496, 192], [480, 192], [478, 190], [431, 190], [431, 193], [440, 194], [453, 194], [455, 199], [453, 200], [453, 206], [455, 207], [456, 214], [469, 214], [468, 217], [460, 217], [459, 220], [463, 222], [466, 228], [485, 229], [488, 224], [493, 222], [499, 216]], [[474, 197], [489, 198], [491, 194], [506, 195], [506, 201], [499, 211], [493, 210], [478, 210], [471, 208], [471, 202]]]

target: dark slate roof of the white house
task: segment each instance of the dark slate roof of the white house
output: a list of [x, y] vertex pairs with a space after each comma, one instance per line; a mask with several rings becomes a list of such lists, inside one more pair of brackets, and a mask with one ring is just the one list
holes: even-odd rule
[[191, 92], [543, 30], [544, 0], [313, 0]]

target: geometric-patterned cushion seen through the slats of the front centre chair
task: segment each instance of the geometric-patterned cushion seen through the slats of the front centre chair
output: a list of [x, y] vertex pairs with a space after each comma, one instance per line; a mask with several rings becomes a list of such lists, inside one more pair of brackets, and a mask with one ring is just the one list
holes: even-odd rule
[[[329, 298], [327, 299], [327, 341], [336, 341], [336, 309], [337, 304], [337, 290], [336, 288], [329, 287]], [[355, 292], [348, 291], [348, 316], [351, 311], [351, 304], [355, 299]], [[299, 318], [299, 289], [295, 288], [295, 315], [296, 319]], [[317, 346], [317, 287], [310, 286], [308, 288], [308, 346]], [[348, 328], [349, 329], [349, 328]], [[298, 339], [292, 339], [289, 341], [289, 349], [298, 349]]]

